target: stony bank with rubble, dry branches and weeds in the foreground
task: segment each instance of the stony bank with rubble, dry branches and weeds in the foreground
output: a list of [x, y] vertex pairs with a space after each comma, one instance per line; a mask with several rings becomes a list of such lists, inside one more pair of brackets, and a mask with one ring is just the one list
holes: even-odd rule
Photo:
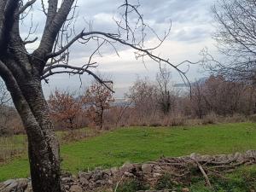
[[[250, 150], [244, 154], [228, 155], [200, 155], [191, 154], [180, 158], [164, 158], [148, 162], [146, 164], [125, 164], [119, 168], [108, 170], [96, 169], [93, 172], [79, 172], [73, 177], [71, 174], [63, 174], [62, 183], [67, 192], [102, 192], [119, 191], [129, 192], [139, 189], [166, 189], [166, 191], [190, 191], [195, 178], [205, 180], [207, 188], [216, 189], [212, 183], [212, 177], [225, 177], [226, 172], [234, 172], [238, 166], [251, 166], [256, 163], [256, 151]], [[256, 172], [255, 172], [256, 173]], [[250, 177], [255, 183], [247, 183], [241, 188], [237, 184], [236, 191], [255, 191], [256, 176]], [[137, 189], [124, 189], [124, 183], [138, 183]], [[0, 191], [32, 191], [29, 179], [9, 180], [0, 183]], [[145, 190], [140, 190], [145, 191]], [[223, 190], [222, 190], [223, 191]], [[229, 189], [229, 191], [233, 191]]]

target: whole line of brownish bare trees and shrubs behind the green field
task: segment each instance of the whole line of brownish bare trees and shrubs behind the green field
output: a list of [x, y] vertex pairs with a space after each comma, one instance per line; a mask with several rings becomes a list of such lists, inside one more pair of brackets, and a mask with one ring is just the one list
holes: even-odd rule
[[[244, 81], [210, 76], [191, 84], [191, 90], [174, 86], [171, 72], [161, 68], [154, 81], [137, 78], [124, 100], [115, 102], [108, 87], [93, 82], [82, 93], [55, 90], [49, 111], [56, 130], [90, 126], [96, 130], [124, 125], [183, 125], [187, 119], [249, 116], [256, 113], [256, 88]], [[0, 86], [0, 134], [23, 131], [9, 94]]]

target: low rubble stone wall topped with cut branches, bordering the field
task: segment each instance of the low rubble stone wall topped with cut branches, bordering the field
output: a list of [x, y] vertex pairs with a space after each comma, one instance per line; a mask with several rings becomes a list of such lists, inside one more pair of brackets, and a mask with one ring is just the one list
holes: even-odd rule
[[[244, 154], [200, 155], [191, 154], [179, 158], [162, 158], [145, 164], [125, 163], [119, 168], [108, 170], [97, 168], [92, 172], [79, 172], [77, 176], [64, 173], [61, 177], [63, 187], [67, 192], [116, 192], [119, 184], [127, 180], [137, 179], [148, 183], [152, 188], [160, 177], [168, 173], [172, 176], [172, 182], [188, 184], [191, 177], [190, 170], [197, 170], [205, 178], [211, 187], [208, 176], [221, 174], [235, 169], [236, 166], [252, 165], [256, 163], [256, 150], [249, 150]], [[0, 183], [1, 192], [32, 192], [32, 184], [29, 178], [11, 179]], [[153, 190], [154, 191], [154, 190]], [[163, 190], [172, 191], [172, 190]], [[183, 189], [184, 192], [189, 189]]]

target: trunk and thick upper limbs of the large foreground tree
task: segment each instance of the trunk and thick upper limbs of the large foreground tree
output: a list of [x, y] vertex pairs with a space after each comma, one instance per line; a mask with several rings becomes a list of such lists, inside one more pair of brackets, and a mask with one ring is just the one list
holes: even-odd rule
[[20, 37], [20, 20], [24, 18], [21, 13], [25, 14], [23, 11], [35, 1], [22, 2], [0, 0], [0, 77], [26, 129], [33, 192], [61, 192], [59, 144], [49, 119], [41, 78], [48, 54], [58, 41], [56, 37], [74, 1], [62, 1], [58, 9], [58, 1], [49, 0], [44, 32], [38, 49], [32, 54], [28, 53]]

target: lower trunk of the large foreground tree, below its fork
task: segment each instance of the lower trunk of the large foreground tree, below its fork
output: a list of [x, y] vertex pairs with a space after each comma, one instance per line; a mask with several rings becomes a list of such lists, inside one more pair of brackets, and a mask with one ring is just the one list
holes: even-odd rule
[[[60, 192], [61, 168], [59, 144], [45, 102], [40, 79], [7, 87], [26, 129], [33, 192]], [[20, 96], [20, 91], [22, 96]]]

